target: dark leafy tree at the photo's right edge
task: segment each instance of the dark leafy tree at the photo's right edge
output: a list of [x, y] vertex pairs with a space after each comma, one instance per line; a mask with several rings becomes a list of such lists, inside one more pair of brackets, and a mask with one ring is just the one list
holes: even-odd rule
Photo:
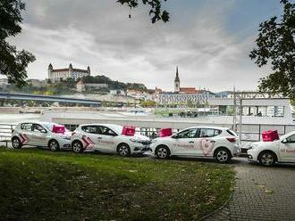
[[295, 98], [295, 4], [281, 0], [282, 20], [277, 17], [259, 26], [257, 48], [249, 54], [260, 68], [270, 62], [273, 73], [259, 80], [259, 90]]

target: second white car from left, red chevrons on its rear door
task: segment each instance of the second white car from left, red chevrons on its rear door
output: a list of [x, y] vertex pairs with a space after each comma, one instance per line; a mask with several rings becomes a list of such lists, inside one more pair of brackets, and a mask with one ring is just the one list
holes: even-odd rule
[[147, 136], [122, 135], [122, 130], [122, 126], [111, 124], [80, 125], [72, 133], [72, 151], [117, 152], [121, 156], [149, 151]]

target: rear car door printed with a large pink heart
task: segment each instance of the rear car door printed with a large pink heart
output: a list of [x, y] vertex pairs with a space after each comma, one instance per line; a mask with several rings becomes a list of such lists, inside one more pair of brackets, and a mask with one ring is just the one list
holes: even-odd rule
[[209, 157], [213, 156], [215, 145], [218, 144], [219, 140], [215, 138], [216, 135], [220, 135], [222, 130], [214, 128], [199, 128], [198, 132], [198, 156]]

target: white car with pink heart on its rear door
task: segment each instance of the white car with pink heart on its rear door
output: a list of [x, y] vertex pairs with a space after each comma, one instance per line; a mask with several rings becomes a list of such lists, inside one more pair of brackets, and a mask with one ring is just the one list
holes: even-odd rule
[[159, 159], [196, 156], [225, 163], [240, 153], [237, 135], [224, 127], [190, 127], [175, 135], [156, 138], [150, 147]]

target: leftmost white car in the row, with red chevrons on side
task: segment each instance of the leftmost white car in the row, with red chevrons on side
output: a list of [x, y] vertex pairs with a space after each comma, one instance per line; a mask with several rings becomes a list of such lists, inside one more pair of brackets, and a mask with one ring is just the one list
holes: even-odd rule
[[71, 149], [71, 132], [63, 127], [63, 132], [55, 132], [54, 128], [63, 127], [50, 122], [22, 122], [13, 130], [13, 148], [23, 145], [47, 147], [51, 151]]

